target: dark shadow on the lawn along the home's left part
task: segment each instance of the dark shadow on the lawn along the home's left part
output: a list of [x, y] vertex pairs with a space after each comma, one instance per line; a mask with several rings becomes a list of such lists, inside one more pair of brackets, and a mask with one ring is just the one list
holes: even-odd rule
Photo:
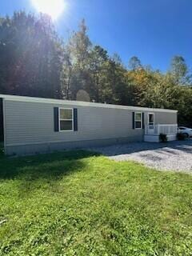
[[22, 158], [0, 158], [0, 179], [21, 178], [33, 181], [39, 178], [51, 178], [56, 180], [85, 167], [85, 163], [81, 161], [82, 158], [98, 155], [90, 151], [73, 150]]

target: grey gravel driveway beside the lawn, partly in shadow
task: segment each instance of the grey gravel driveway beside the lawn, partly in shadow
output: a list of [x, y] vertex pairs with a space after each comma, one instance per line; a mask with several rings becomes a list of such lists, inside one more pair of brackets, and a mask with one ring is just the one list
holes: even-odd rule
[[174, 170], [192, 174], [192, 140], [180, 142], [152, 143], [132, 142], [124, 145], [95, 147], [115, 161], [134, 160], [158, 170]]

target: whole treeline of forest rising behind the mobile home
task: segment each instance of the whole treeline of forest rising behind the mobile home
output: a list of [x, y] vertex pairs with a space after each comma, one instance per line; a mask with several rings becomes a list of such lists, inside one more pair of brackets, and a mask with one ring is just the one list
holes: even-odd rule
[[131, 57], [125, 66], [94, 45], [84, 20], [66, 42], [43, 14], [15, 12], [0, 17], [0, 94], [90, 100], [178, 110], [178, 122], [192, 126], [192, 79], [182, 56], [166, 73]]

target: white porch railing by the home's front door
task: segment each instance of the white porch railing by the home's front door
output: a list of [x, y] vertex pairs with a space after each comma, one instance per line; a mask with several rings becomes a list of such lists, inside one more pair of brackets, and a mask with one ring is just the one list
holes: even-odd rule
[[148, 125], [145, 127], [146, 135], [159, 135], [159, 134], [177, 134], [178, 125]]

